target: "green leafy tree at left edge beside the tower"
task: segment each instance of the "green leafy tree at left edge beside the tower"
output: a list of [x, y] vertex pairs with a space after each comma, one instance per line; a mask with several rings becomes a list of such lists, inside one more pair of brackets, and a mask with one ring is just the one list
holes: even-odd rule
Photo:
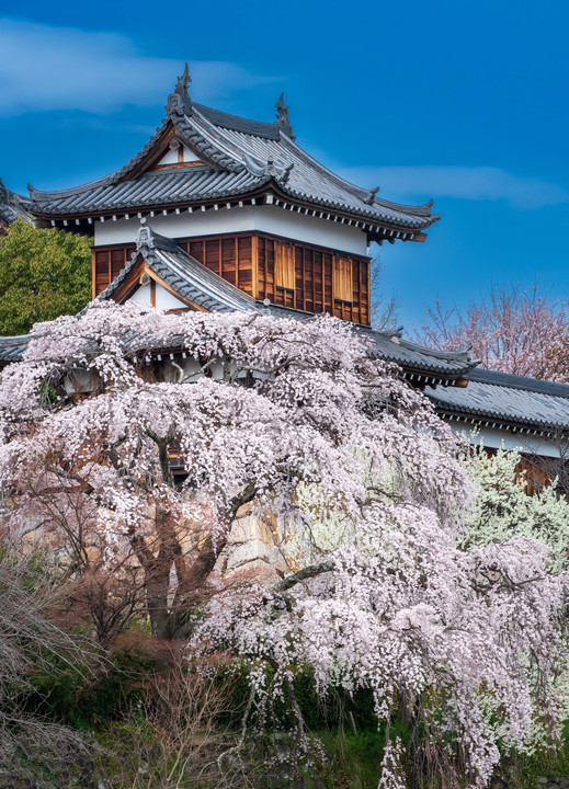
[[75, 315], [91, 299], [89, 241], [18, 219], [0, 241], [0, 334]]

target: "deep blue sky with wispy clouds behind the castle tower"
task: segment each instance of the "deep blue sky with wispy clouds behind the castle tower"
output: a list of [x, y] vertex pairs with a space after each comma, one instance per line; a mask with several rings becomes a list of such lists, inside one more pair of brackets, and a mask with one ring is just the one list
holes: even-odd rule
[[284, 90], [326, 164], [390, 199], [434, 198], [426, 243], [382, 253], [406, 325], [504, 281], [566, 298], [568, 26], [567, 0], [4, 0], [0, 175], [25, 192], [122, 165], [189, 60], [197, 101], [270, 121]]

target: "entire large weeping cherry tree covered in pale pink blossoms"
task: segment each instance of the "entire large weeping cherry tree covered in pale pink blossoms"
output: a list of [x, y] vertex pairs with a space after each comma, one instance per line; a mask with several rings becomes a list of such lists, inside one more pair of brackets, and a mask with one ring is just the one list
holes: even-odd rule
[[[473, 786], [536, 717], [555, 736], [562, 576], [528, 537], [460, 545], [456, 439], [350, 325], [95, 304], [35, 327], [0, 436], [8, 527], [84, 575], [93, 557], [140, 571], [152, 632], [248, 661], [251, 698], [288, 698], [300, 748], [303, 666], [322, 694], [367, 688], [379, 724], [405, 713]], [[244, 504], [294, 547], [272, 586], [219, 575]], [[388, 746], [382, 786], [407, 757]]]

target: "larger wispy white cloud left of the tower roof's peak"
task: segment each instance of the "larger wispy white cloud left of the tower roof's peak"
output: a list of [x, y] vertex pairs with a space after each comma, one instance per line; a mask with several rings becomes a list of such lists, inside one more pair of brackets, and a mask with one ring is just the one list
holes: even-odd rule
[[[180, 59], [139, 53], [118, 33], [2, 18], [0, 53], [4, 116], [49, 110], [111, 113], [125, 104], [155, 105], [183, 69]], [[224, 61], [192, 61], [191, 75], [197, 101], [275, 81]]]

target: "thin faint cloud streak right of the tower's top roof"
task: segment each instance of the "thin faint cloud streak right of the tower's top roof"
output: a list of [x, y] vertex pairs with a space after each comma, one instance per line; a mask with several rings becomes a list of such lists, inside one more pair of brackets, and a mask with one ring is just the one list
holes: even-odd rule
[[380, 186], [387, 199], [401, 197], [458, 197], [509, 201], [517, 208], [542, 208], [569, 202], [569, 192], [539, 179], [512, 175], [492, 167], [355, 167], [340, 170], [362, 186]]

